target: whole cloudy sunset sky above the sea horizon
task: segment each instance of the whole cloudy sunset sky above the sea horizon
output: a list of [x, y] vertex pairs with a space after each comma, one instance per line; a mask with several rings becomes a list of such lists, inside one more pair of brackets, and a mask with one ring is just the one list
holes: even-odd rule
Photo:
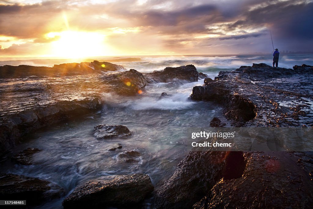
[[0, 57], [313, 51], [313, 0], [0, 0]]

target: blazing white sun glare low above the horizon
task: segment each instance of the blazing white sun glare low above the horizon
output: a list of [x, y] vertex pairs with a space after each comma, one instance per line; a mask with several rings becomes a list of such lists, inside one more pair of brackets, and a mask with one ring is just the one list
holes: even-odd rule
[[55, 38], [51, 42], [51, 54], [63, 58], [84, 58], [107, 55], [105, 35], [96, 32], [62, 31], [46, 34], [48, 39]]

